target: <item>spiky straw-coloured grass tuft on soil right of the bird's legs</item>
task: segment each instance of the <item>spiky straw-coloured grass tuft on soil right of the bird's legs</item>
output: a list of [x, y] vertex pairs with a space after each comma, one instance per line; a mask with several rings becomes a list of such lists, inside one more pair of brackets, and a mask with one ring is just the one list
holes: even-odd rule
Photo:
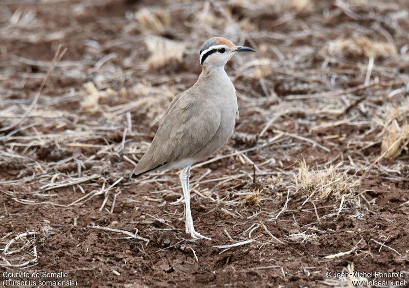
[[342, 196], [347, 199], [352, 198], [356, 195], [354, 188], [359, 185], [359, 182], [352, 181], [352, 177], [345, 172], [338, 172], [337, 169], [341, 165], [342, 163], [339, 163], [325, 170], [314, 171], [308, 167], [305, 160], [300, 161], [296, 175], [297, 191], [311, 192], [308, 198], [314, 198], [316, 201], [327, 200], [330, 197], [340, 200]]

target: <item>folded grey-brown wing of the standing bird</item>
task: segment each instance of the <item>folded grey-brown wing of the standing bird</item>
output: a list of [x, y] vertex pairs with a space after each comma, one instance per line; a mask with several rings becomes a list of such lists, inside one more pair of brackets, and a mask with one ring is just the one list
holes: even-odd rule
[[133, 173], [144, 173], [193, 156], [215, 136], [221, 120], [219, 111], [193, 91], [177, 95]]

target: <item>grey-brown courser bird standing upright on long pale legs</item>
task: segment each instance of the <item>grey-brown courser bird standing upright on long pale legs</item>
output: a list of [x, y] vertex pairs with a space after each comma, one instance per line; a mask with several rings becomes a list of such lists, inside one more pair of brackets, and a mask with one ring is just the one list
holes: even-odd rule
[[190, 167], [228, 141], [239, 119], [236, 89], [224, 65], [239, 52], [256, 52], [236, 46], [223, 37], [203, 43], [197, 81], [176, 95], [162, 117], [148, 150], [133, 169], [132, 178], [159, 169], [182, 169], [179, 174], [185, 198], [185, 230], [193, 239], [211, 238], [196, 232], [190, 210]]

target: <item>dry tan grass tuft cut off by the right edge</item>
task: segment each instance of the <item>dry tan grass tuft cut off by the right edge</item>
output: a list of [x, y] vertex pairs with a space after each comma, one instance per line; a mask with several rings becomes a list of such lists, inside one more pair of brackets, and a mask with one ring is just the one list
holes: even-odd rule
[[399, 127], [396, 121], [393, 121], [387, 128], [387, 131], [382, 138], [382, 153], [385, 153], [383, 158], [397, 158], [403, 150], [408, 150], [409, 144], [409, 124]]

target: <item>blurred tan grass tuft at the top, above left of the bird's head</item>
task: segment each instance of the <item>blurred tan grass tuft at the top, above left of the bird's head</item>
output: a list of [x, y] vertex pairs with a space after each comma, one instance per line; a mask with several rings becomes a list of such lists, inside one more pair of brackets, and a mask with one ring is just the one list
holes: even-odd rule
[[162, 34], [166, 32], [171, 24], [170, 13], [164, 9], [143, 8], [135, 14], [141, 30], [152, 34]]

